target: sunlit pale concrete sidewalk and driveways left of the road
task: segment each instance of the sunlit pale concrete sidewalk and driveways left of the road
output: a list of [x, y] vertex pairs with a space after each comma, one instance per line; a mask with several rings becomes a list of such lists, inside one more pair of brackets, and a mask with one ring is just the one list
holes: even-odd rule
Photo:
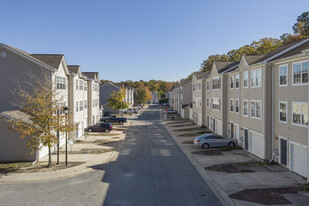
[[[130, 121], [127, 125], [119, 126], [119, 128], [127, 128], [130, 125]], [[117, 125], [114, 128], [118, 128]], [[94, 167], [104, 165], [110, 161], [115, 161], [118, 156], [116, 147], [120, 146], [120, 142], [125, 139], [125, 130], [123, 131], [111, 131], [110, 133], [93, 133], [80, 137], [76, 140], [71, 147], [68, 145], [68, 161], [69, 162], [84, 162], [83, 164], [69, 167], [65, 169], [59, 169], [55, 171], [35, 172], [35, 173], [8, 173], [0, 176], [0, 184], [20, 183], [20, 182], [34, 182], [34, 181], [48, 181], [59, 178], [73, 177], [76, 175], [84, 174], [93, 170]], [[104, 142], [107, 144], [105, 145]], [[113, 145], [109, 145], [109, 143]], [[115, 146], [116, 144], [116, 146]], [[81, 150], [101, 150], [103, 153], [87, 154], [87, 152], [80, 152]], [[70, 151], [78, 154], [70, 154]], [[52, 160], [55, 161], [57, 155], [52, 155]], [[64, 146], [60, 148], [59, 155], [60, 162], [65, 161]], [[48, 161], [48, 156], [44, 157], [40, 161]], [[53, 162], [53, 164], [55, 164]]]

